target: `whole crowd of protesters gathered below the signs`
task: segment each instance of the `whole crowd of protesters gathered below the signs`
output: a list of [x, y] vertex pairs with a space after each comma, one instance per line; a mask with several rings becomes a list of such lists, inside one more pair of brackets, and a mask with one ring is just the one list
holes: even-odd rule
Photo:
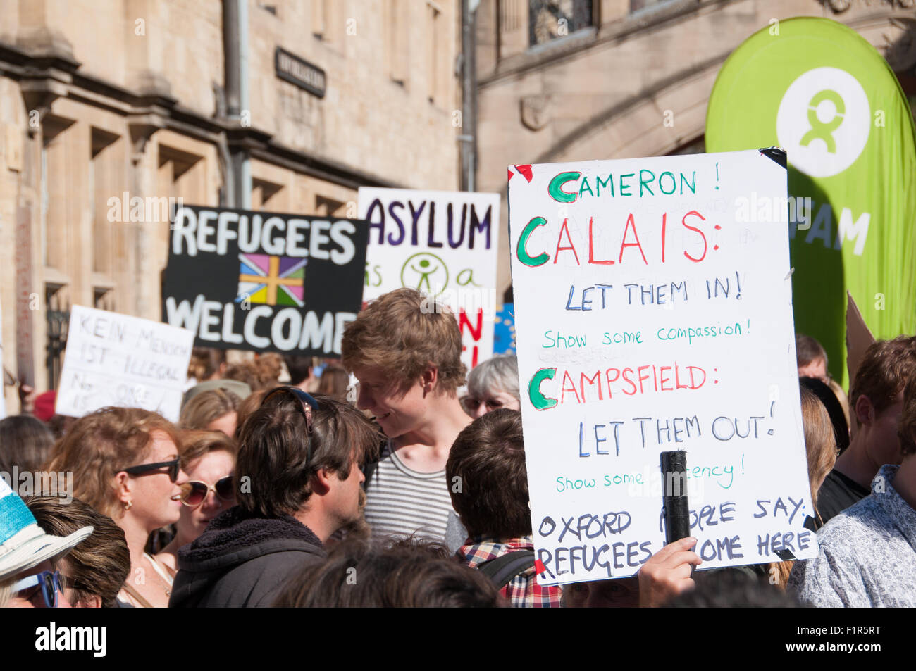
[[632, 578], [556, 586], [535, 568], [518, 363], [468, 373], [427, 301], [370, 303], [340, 362], [195, 351], [177, 426], [24, 396], [0, 471], [42, 486], [0, 482], [0, 605], [916, 605], [916, 338], [871, 345], [848, 398], [796, 338], [817, 557], [694, 572], [688, 537]]

